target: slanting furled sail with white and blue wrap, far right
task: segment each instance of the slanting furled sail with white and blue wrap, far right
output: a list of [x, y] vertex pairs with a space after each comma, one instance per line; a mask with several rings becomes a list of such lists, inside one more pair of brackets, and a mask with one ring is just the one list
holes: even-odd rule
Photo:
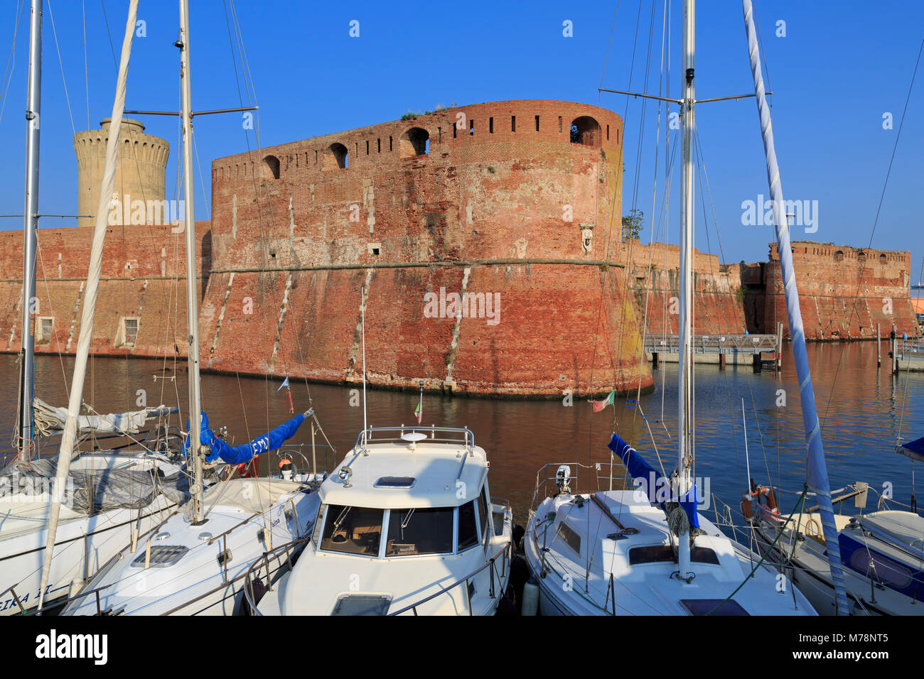
[[[784, 210], [783, 184], [780, 182], [780, 167], [776, 163], [776, 147], [773, 144], [773, 124], [770, 106], [763, 87], [760, 72], [760, 50], [757, 30], [754, 27], [754, 8], [750, 0], [742, 0], [745, 15], [745, 32], [748, 35], [748, 57], [751, 75], [754, 78], [754, 92], [757, 95], [757, 109], [760, 115], [760, 132], [763, 137], [763, 152], [767, 160], [767, 182], [773, 207], [773, 228], [776, 231], [776, 246], [780, 255], [780, 272], [783, 274], [783, 291], [786, 298], [786, 316], [789, 321], [790, 341], [793, 345], [793, 363], [796, 365], [796, 380], [799, 384], [799, 401], [802, 405], [802, 426], [805, 430], [808, 457], [808, 486], [815, 491], [821, 515], [821, 532], [824, 534], [825, 552], [831, 566], [836, 610], [838, 615], [850, 614], [844, 582], [844, 567], [841, 564], [841, 548], [837, 540], [837, 526], [834, 523], [834, 508], [831, 501], [831, 483], [828, 467], [824, 461], [824, 445], [821, 443], [821, 425], [815, 408], [815, 390], [812, 388], [811, 371], [808, 370], [806, 333], [802, 325], [802, 310], [799, 308], [799, 292], [796, 286], [796, 270], [793, 267], [793, 251], [789, 240], [789, 222]], [[748, 484], [750, 479], [748, 479]], [[748, 488], [749, 490], [749, 488]]]

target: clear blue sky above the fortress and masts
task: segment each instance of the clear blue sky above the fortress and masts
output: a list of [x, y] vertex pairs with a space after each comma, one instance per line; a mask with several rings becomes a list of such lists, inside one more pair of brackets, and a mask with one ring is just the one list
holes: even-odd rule
[[[225, 0], [226, 2], [227, 0]], [[0, 3], [0, 58], [10, 55], [20, 0]], [[394, 120], [408, 110], [436, 104], [480, 103], [505, 99], [560, 99], [599, 103], [626, 117], [626, 191], [631, 205], [638, 167], [638, 208], [645, 212], [642, 238], [650, 238], [654, 183], [656, 104], [642, 111], [641, 100], [599, 93], [601, 84], [656, 93], [661, 78], [663, 0], [655, 0], [651, 31], [651, 67], [645, 87], [651, 0], [618, 0], [612, 47], [603, 75], [616, 2], [581, 4], [535, 2], [298, 3], [237, 0], [243, 45], [249, 57], [256, 101], [260, 104], [262, 145], [305, 139], [334, 131]], [[76, 212], [76, 160], [73, 126], [88, 127], [88, 91], [84, 73], [82, 12], [86, 15], [89, 125], [109, 115], [116, 78], [103, 6], [118, 54], [127, 2], [116, 0], [48, 0], [44, 15], [42, 125], [43, 212]], [[672, 96], [680, 86], [680, 3], [671, 2]], [[818, 201], [818, 231], [794, 238], [867, 246], [886, 169], [901, 122], [921, 39], [924, 4], [792, 2], [757, 3], [760, 32], [774, 91], [776, 148], [787, 199]], [[28, 2], [18, 21], [8, 89], [0, 115], [0, 168], [4, 190], [0, 212], [22, 210], [25, 158]], [[52, 16], [55, 29], [52, 30]], [[178, 52], [173, 47], [178, 12], [175, 2], [142, 1], [139, 18], [146, 37], [136, 38], [129, 73], [128, 108], [175, 109], [178, 102]], [[349, 36], [350, 21], [359, 21], [359, 37]], [[635, 67], [631, 70], [638, 19]], [[563, 35], [571, 21], [573, 37]], [[777, 37], [777, 21], [785, 37]], [[193, 0], [193, 108], [237, 106], [238, 82], [221, 0]], [[700, 0], [697, 24], [697, 94], [699, 98], [752, 91], [740, 4], [734, 0]], [[71, 114], [65, 98], [60, 49]], [[236, 42], [237, 44], [237, 42]], [[924, 70], [922, 66], [921, 70]], [[238, 77], [240, 73], [238, 72]], [[666, 73], [665, 73], [666, 77]], [[918, 210], [924, 132], [913, 115], [924, 105], [924, 73], [908, 104], [892, 176], [879, 224], [872, 237], [877, 249], [911, 250], [912, 283], [921, 274], [924, 229]], [[672, 110], [675, 110], [673, 108]], [[894, 127], [882, 128], [882, 115], [894, 115]], [[176, 119], [148, 117], [147, 131], [171, 143], [167, 194], [176, 187], [178, 140]], [[764, 261], [772, 227], [742, 225], [744, 200], [767, 194], [758, 117], [753, 99], [704, 103], [697, 109], [699, 141], [709, 176], [718, 238], [711, 214], [703, 227], [697, 212], [697, 246], [720, 254], [723, 261]], [[641, 153], [638, 135], [644, 123]], [[662, 127], [663, 129], [663, 127]], [[202, 168], [215, 157], [247, 150], [239, 114], [203, 116], [196, 123]], [[250, 143], [254, 139], [250, 138]], [[663, 186], [663, 139], [658, 182]], [[206, 192], [209, 178], [204, 177]], [[197, 187], [200, 179], [197, 177]], [[676, 187], [672, 180], [668, 219], [671, 242], [677, 240]], [[699, 203], [699, 189], [697, 193]], [[207, 219], [208, 205], [197, 195], [197, 216]], [[660, 205], [660, 188], [658, 204]], [[660, 209], [660, 208], [659, 208]], [[73, 224], [48, 219], [45, 228]], [[18, 219], [0, 220], [0, 228], [19, 229]], [[708, 236], [708, 237], [707, 237]]]

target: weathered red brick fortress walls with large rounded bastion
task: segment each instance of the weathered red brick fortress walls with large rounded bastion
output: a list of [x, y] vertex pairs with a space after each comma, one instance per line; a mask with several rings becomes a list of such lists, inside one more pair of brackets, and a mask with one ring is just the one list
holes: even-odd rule
[[[196, 224], [203, 368], [356, 382], [364, 288], [372, 384], [509, 395], [650, 386], [641, 330], [676, 331], [664, 309], [677, 249], [622, 242], [622, 130], [596, 106], [482, 103], [215, 160], [213, 219]], [[140, 151], [128, 144], [120, 163], [149, 142], [164, 152], [133, 133]], [[162, 188], [133, 190], [163, 200]], [[94, 353], [185, 354], [182, 238], [169, 224], [109, 228]], [[39, 352], [77, 346], [90, 242], [89, 227], [40, 233]], [[915, 332], [909, 253], [793, 248], [810, 339], [869, 338], [876, 322]], [[21, 233], [0, 233], [8, 352], [20, 343], [21, 252]], [[785, 321], [775, 246], [765, 263], [698, 254], [695, 266], [697, 333]]]

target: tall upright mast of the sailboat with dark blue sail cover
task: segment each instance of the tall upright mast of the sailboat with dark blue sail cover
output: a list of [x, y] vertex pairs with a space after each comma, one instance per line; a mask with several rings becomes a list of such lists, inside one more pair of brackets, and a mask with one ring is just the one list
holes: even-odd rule
[[[684, 0], [683, 79], [680, 149], [683, 154], [683, 182], [680, 196], [680, 354], [677, 370], [677, 499], [686, 498], [693, 460], [692, 418], [692, 311], [693, 311], [693, 69], [696, 51], [696, 0]], [[677, 511], [683, 511], [678, 509]], [[689, 527], [682, 524], [677, 549], [677, 576], [690, 572]]]

